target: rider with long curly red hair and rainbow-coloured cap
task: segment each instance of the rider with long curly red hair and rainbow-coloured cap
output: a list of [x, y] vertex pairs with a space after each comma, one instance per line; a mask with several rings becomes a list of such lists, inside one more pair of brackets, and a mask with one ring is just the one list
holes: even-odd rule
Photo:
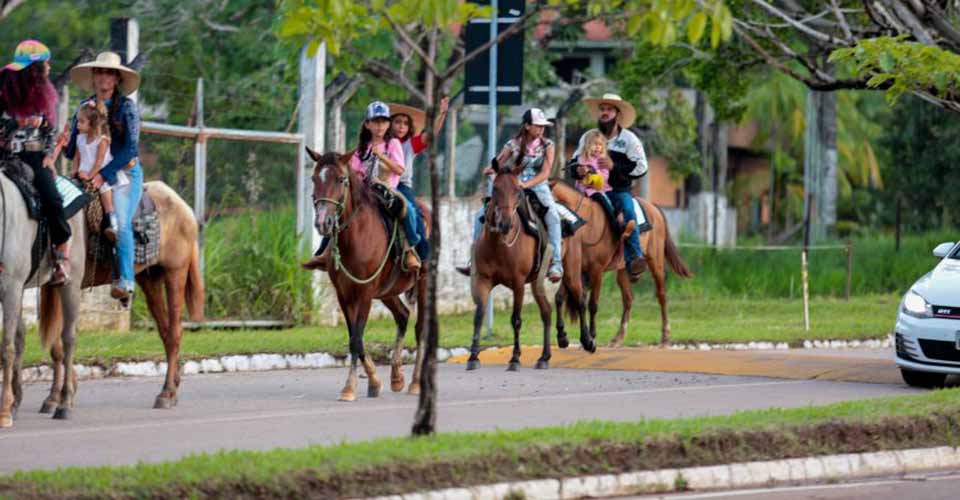
[[0, 72], [0, 161], [16, 157], [33, 169], [33, 184], [43, 202], [54, 247], [50, 284], [56, 286], [70, 279], [66, 257], [70, 226], [55, 185], [57, 91], [49, 75], [50, 49], [36, 40], [21, 42], [13, 62]]

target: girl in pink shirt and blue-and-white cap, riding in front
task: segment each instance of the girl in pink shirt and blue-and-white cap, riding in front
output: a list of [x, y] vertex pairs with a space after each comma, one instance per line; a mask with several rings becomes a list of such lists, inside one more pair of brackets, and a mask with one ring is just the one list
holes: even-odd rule
[[[380, 184], [396, 193], [405, 164], [403, 145], [390, 132], [390, 107], [380, 101], [370, 103], [360, 128], [359, 144], [350, 157], [350, 168], [367, 183]], [[401, 197], [399, 193], [396, 196]], [[416, 217], [415, 214], [415, 207], [407, 207], [405, 218]], [[412, 223], [410, 220], [404, 221], [404, 227], [408, 226], [416, 227], [416, 219], [412, 219]], [[407, 238], [412, 236], [408, 235]], [[329, 242], [328, 238], [324, 238], [315, 256], [305, 262], [303, 267], [327, 269], [329, 258], [326, 250]], [[411, 270], [419, 269], [420, 259], [417, 252], [408, 239], [405, 238], [404, 242], [404, 266]]]

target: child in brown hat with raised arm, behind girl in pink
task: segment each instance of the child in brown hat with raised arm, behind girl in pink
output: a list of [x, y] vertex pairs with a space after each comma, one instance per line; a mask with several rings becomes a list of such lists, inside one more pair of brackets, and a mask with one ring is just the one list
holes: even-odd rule
[[403, 159], [405, 160], [403, 174], [397, 191], [407, 199], [408, 217], [403, 219], [403, 229], [407, 233], [410, 245], [417, 249], [420, 259], [430, 256], [430, 242], [427, 240], [427, 230], [423, 222], [423, 214], [417, 207], [413, 194], [413, 162], [433, 140], [434, 134], [443, 126], [447, 115], [447, 106], [450, 100], [444, 97], [440, 100], [440, 109], [433, 123], [433, 131], [424, 130], [427, 117], [422, 110], [403, 104], [390, 104], [390, 133], [403, 143]]

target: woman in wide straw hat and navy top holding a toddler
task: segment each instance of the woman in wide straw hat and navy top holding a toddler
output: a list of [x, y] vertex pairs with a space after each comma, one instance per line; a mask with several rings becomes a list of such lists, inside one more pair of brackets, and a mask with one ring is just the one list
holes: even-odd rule
[[[117, 184], [117, 176], [125, 175], [129, 183], [114, 191], [114, 210], [119, 223], [117, 234], [117, 268], [119, 279], [114, 282], [110, 295], [121, 301], [129, 301], [133, 294], [133, 214], [143, 194], [143, 169], [138, 159], [140, 141], [140, 113], [137, 104], [127, 97], [140, 86], [140, 74], [123, 65], [120, 56], [102, 52], [93, 62], [74, 66], [70, 79], [81, 89], [93, 92], [90, 101], [107, 107], [110, 126], [110, 154], [113, 159], [93, 178], [94, 186], [103, 183]], [[77, 117], [73, 117], [73, 130], [67, 146], [67, 158], [73, 158], [77, 145]]]

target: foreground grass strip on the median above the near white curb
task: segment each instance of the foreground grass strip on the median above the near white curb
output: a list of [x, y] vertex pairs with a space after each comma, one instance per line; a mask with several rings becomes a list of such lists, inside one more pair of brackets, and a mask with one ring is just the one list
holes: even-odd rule
[[[724, 454], [740, 456], [738, 453], [742, 453], [741, 448], [762, 446], [763, 440], [757, 439], [758, 436], [787, 436], [778, 439], [778, 442], [790, 445], [789, 451], [775, 450], [762, 454], [803, 456], [802, 453], [835, 452], [841, 449], [842, 447], [831, 448], [830, 439], [843, 440], [843, 438], [838, 439], [836, 433], [850, 434], [845, 425], [869, 426], [879, 422], [889, 422], [891, 418], [899, 418], [897, 422], [902, 426], [931, 416], [947, 416], [947, 418], [940, 418], [942, 423], [950, 422], [952, 420], [950, 416], [956, 416], [958, 413], [960, 413], [960, 390], [951, 389], [914, 396], [879, 398], [818, 407], [747, 411], [730, 416], [652, 419], [628, 423], [580, 422], [562, 427], [449, 433], [419, 439], [388, 438], [336, 446], [312, 446], [304, 449], [219, 452], [193, 455], [161, 464], [20, 472], [0, 478], [0, 495], [3, 495], [6, 490], [13, 491], [15, 494], [29, 492], [34, 495], [50, 496], [67, 493], [88, 497], [107, 494], [136, 497], [211, 494], [217, 496], [218, 493], [221, 496], [224, 493], [229, 496], [231, 493], [229, 488], [224, 492], [218, 490], [217, 485], [239, 482], [248, 491], [269, 496], [271, 489], [289, 488], [291, 483], [298, 480], [303, 482], [304, 478], [309, 478], [308, 485], [317, 485], [323, 484], [324, 481], [343, 481], [344, 477], [349, 479], [350, 474], [361, 474], [363, 471], [381, 471], [384, 468], [389, 470], [389, 467], [398, 464], [430, 471], [433, 470], [429, 468], [430, 464], [437, 463], [454, 464], [454, 467], [459, 464], [465, 475], [458, 478], [458, 482], [454, 484], [462, 485], [470, 484], [474, 474], [482, 475], [483, 471], [478, 472], [469, 467], [469, 464], [471, 461], [482, 461], [484, 457], [498, 457], [500, 461], [510, 461], [514, 464], [511, 467], [513, 477], [529, 477], [531, 473], [525, 476], [520, 470], [523, 467], [518, 468], [516, 464], [542, 465], [537, 464], [531, 457], [538, 455], [549, 457], [551, 453], [558, 450], [571, 449], [585, 450], [588, 453], [592, 450], [596, 453], [602, 448], [601, 444], [616, 444], [621, 451], [626, 446], [645, 444], [647, 447], [642, 448], [641, 451], [653, 455], [651, 450], [656, 451], [658, 448], [649, 445], [654, 440], [672, 440], [674, 443], [679, 443], [681, 455], [685, 455], [683, 450], [701, 452], [704, 446], [720, 444], [717, 449], [712, 450], [713, 454], [701, 455], [699, 459], [710, 462], [722, 459]], [[816, 428], [817, 426], [819, 428]], [[808, 442], [796, 439], [804, 436], [804, 432], [809, 432], [811, 428], [815, 428], [814, 430], [819, 433], [816, 434], [818, 436], [816, 439]], [[745, 431], [746, 429], [749, 431]], [[807, 431], [804, 431], [805, 429]], [[823, 432], [831, 429], [832, 433]], [[911, 435], [910, 432], [899, 435], [893, 432], [893, 438], [891, 438], [890, 432], [878, 432], [877, 427], [854, 428], [856, 429], [861, 429], [862, 432], [852, 434], [858, 434], [861, 441], [848, 440], [847, 448], [843, 449], [849, 449], [852, 446], [853, 449], [865, 451], [875, 449], [880, 444], [896, 446], [896, 442], [902, 443], [902, 446], [920, 444], [921, 441], [923, 443], [957, 441], [957, 436], [949, 432], [926, 437]], [[727, 434], [717, 434], [718, 432]], [[711, 435], [726, 436], [726, 441], [711, 441]], [[923, 441], [924, 439], [926, 441]], [[816, 443], [812, 443], [813, 441]], [[660, 446], [659, 449], [664, 451], [665, 447]], [[674, 449], [671, 448], [671, 450]], [[615, 457], [611, 456], [610, 459], [612, 461]], [[631, 462], [632, 465], [644, 465], [643, 457], [639, 458], [641, 460], [639, 463], [636, 462], [638, 460], [636, 457], [632, 460], [634, 460]], [[697, 459], [694, 458], [694, 460]], [[545, 473], [549, 477], [556, 477], [565, 473], [588, 472], [586, 464], [572, 466], [571, 469], [569, 464], [562, 461], [559, 463], [565, 467], [538, 469], [534, 475]], [[680, 463], [690, 463], [690, 461]], [[547, 460], [547, 465], [550, 465], [550, 460]], [[593, 466], [595, 468], [589, 470], [603, 471], [612, 468], [612, 465], [604, 462], [593, 464]], [[387, 476], [387, 479], [404, 478]], [[429, 480], [429, 478], [426, 477], [423, 480]]]

